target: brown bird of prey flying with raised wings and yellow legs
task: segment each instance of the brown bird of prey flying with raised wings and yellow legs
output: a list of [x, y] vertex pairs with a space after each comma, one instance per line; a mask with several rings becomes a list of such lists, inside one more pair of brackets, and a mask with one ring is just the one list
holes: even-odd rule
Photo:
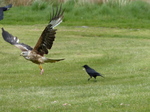
[[50, 22], [42, 32], [34, 48], [24, 43], [19, 43], [19, 39], [17, 37], [14, 37], [7, 31], [5, 31], [4, 28], [2, 28], [3, 39], [6, 42], [15, 45], [17, 48], [19, 48], [22, 51], [21, 56], [23, 56], [25, 59], [32, 61], [33, 63], [39, 64], [42, 74], [44, 70], [41, 64], [49, 62], [54, 63], [64, 60], [64, 59], [49, 59], [44, 57], [44, 54], [48, 54], [48, 49], [51, 49], [53, 46], [53, 41], [55, 40], [56, 34], [56, 29], [53, 28], [62, 22], [63, 12], [64, 10], [62, 10], [61, 6], [60, 8], [57, 7], [56, 11], [54, 11], [53, 9]]

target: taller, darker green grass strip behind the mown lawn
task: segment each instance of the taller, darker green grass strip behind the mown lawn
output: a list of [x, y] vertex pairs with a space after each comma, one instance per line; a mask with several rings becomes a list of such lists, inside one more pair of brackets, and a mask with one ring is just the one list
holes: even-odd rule
[[[59, 4], [60, 5], [60, 4]], [[56, 3], [35, 1], [30, 6], [12, 7], [5, 12], [0, 24], [34, 25], [45, 24], [49, 21], [52, 6]], [[117, 28], [150, 28], [150, 4], [143, 1], [118, 2], [104, 4], [78, 3], [69, 0], [63, 3], [65, 26], [97, 26]]]

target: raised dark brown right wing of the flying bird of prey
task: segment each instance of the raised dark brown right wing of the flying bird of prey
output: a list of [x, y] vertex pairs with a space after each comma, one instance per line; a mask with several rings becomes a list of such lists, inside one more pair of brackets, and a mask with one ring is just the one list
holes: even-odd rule
[[50, 22], [42, 32], [38, 42], [34, 47], [34, 51], [37, 54], [43, 56], [44, 54], [48, 54], [48, 49], [52, 48], [53, 41], [55, 40], [56, 29], [54, 27], [58, 26], [63, 19], [62, 7], [57, 7], [56, 11], [53, 9], [53, 13], [51, 14]]

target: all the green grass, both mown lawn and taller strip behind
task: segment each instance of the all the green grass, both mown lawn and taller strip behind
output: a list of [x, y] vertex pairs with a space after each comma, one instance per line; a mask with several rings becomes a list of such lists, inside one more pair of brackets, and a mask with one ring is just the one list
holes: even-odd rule
[[[34, 47], [51, 7], [40, 1], [13, 7], [0, 27]], [[46, 57], [65, 60], [44, 64], [43, 75], [0, 38], [0, 111], [149, 112], [149, 4], [69, 1], [63, 7], [64, 22]], [[87, 81], [84, 64], [105, 78]]]

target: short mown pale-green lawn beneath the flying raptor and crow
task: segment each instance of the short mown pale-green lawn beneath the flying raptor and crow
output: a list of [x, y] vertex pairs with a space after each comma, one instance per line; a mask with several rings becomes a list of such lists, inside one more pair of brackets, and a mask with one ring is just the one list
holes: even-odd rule
[[[0, 25], [31, 46], [45, 25]], [[149, 112], [150, 30], [57, 27], [47, 55], [65, 58], [37, 65], [0, 38], [0, 111], [2, 112]], [[91, 79], [87, 64], [104, 74]]]

